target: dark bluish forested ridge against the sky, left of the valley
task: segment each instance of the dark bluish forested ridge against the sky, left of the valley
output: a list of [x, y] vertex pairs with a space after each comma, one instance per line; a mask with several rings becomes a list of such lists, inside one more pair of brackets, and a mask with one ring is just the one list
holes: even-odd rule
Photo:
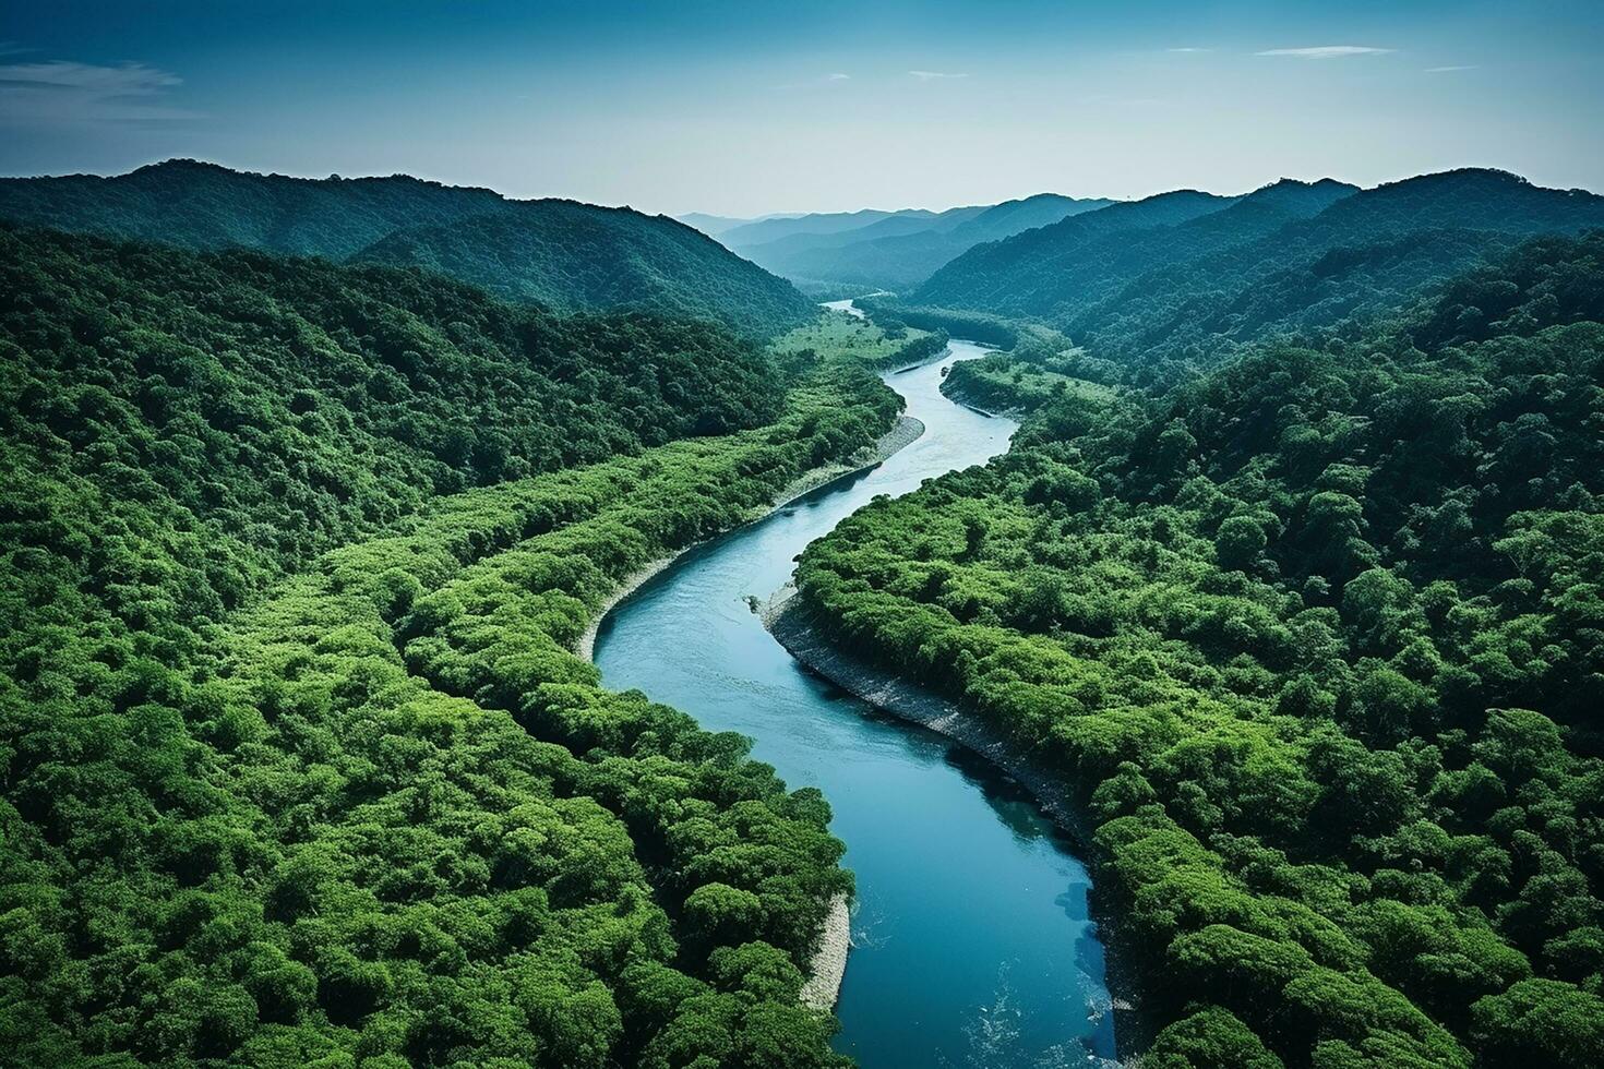
[[404, 175], [306, 180], [168, 160], [114, 178], [8, 178], [0, 220], [202, 250], [419, 264], [552, 309], [654, 311], [747, 335], [812, 314], [791, 284], [666, 216], [508, 200]]

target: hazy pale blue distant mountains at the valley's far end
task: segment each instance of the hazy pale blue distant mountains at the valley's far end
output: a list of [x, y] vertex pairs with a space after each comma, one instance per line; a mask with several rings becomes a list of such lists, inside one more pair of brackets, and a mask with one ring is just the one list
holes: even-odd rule
[[[747, 232], [738, 229], [722, 234], [720, 240], [752, 263], [800, 285], [857, 284], [908, 290], [974, 245], [1110, 204], [1036, 194], [938, 213], [903, 212], [847, 229], [794, 229], [762, 242], [746, 240]], [[815, 216], [794, 223], [808, 228], [808, 218]]]

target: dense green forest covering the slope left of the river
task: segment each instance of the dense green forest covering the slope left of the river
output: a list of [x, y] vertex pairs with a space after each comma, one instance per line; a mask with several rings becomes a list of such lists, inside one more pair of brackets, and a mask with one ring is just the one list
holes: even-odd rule
[[569, 651], [895, 394], [415, 271], [0, 247], [6, 1061], [839, 1061], [828, 805]]

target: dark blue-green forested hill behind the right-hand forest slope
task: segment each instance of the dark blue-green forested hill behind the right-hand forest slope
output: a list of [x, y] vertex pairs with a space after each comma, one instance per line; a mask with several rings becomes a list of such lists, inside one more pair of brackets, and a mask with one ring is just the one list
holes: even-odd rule
[[1278, 183], [1190, 220], [1089, 236], [1163, 200], [983, 245], [909, 300], [1038, 317], [1126, 364], [1206, 362], [1254, 338], [1397, 309], [1524, 237], [1604, 226], [1604, 197], [1461, 170], [1359, 192]]

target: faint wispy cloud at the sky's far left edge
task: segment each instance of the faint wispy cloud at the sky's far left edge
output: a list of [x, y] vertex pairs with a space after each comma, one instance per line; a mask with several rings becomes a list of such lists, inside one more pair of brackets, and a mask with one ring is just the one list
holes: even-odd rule
[[104, 67], [67, 59], [0, 64], [0, 120], [51, 125], [199, 119], [162, 98], [183, 83], [176, 74], [125, 63]]

